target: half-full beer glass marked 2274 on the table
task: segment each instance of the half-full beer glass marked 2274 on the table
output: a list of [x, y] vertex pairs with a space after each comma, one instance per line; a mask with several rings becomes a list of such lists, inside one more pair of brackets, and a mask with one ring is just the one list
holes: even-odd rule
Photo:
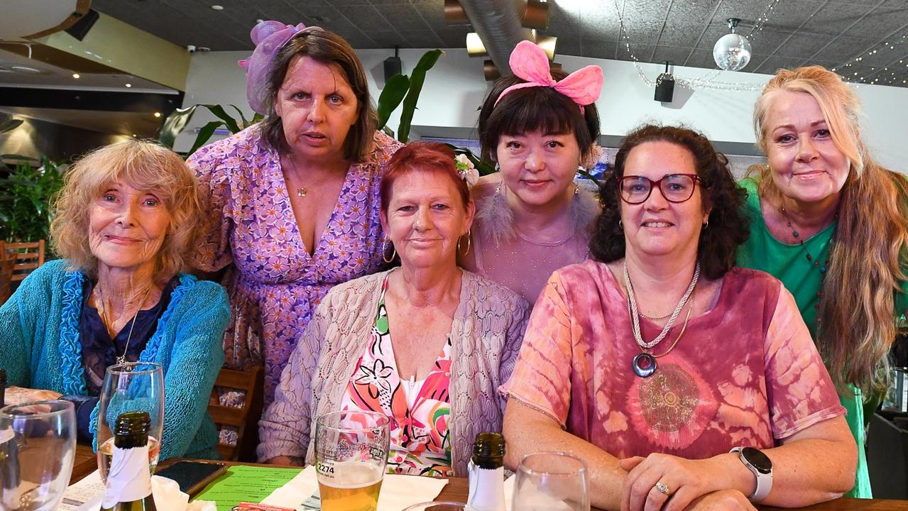
[[322, 511], [375, 511], [389, 442], [390, 420], [378, 412], [332, 412], [316, 421]]

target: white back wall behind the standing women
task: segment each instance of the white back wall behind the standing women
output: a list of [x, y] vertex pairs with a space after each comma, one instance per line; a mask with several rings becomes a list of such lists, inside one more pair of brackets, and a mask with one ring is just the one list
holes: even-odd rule
[[[426, 50], [402, 49], [403, 72], [412, 66]], [[369, 78], [373, 98], [378, 98], [384, 84], [382, 61], [393, 50], [359, 50]], [[482, 74], [482, 59], [469, 58], [466, 50], [447, 49], [439, 63], [429, 71], [419, 109], [413, 116], [413, 126], [427, 126], [444, 131], [450, 128], [473, 129], [479, 112], [477, 108], [487, 91]], [[245, 75], [236, 62], [247, 52], [212, 52], [192, 55], [183, 104], [236, 104], [247, 116], [252, 112], [246, 103]], [[706, 134], [715, 142], [754, 143], [753, 106], [759, 91], [689, 91], [676, 85], [675, 101], [670, 104], [653, 100], [653, 89], [639, 78], [632, 63], [574, 56], [556, 59], [568, 71], [583, 65], [602, 67], [605, 74], [603, 91], [597, 102], [604, 135], [621, 136], [644, 122], [686, 123]], [[660, 64], [640, 64], [646, 75], [654, 80], [663, 71]], [[709, 70], [677, 66], [676, 76], [696, 78], [713, 74]], [[767, 74], [724, 72], [716, 80], [735, 83], [765, 84]], [[908, 172], [908, 143], [904, 127], [908, 123], [908, 89], [883, 85], [860, 85], [857, 92], [864, 101], [863, 138], [873, 154], [884, 165]], [[197, 113], [187, 131], [211, 121], [207, 113]], [[389, 126], [396, 129], [397, 115]], [[418, 130], [415, 130], [418, 131]], [[194, 133], [178, 138], [176, 149], [187, 151]]]

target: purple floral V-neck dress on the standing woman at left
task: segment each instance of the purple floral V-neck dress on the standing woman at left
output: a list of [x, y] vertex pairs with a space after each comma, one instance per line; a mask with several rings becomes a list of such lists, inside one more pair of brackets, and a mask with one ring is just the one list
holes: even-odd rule
[[325, 293], [380, 270], [379, 183], [400, 143], [378, 132], [374, 141], [365, 161], [350, 166], [312, 255], [300, 237], [280, 155], [258, 126], [202, 147], [187, 161], [210, 214], [192, 263], [206, 271], [233, 263], [223, 280], [232, 310], [225, 366], [263, 365], [266, 407]]

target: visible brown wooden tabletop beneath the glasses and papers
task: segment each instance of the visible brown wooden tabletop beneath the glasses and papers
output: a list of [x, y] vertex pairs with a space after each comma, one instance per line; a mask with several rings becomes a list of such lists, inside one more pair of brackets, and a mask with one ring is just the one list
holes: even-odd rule
[[[73, 468], [73, 477], [70, 484], [91, 474], [97, 468], [96, 457], [91, 447], [78, 446], [75, 454], [75, 467]], [[81, 460], [81, 463], [80, 463]], [[162, 462], [158, 469], [169, 467], [177, 459], [169, 459]], [[225, 461], [224, 464], [230, 465], [252, 465], [258, 467], [274, 467], [273, 465], [261, 465], [256, 463], [236, 463]], [[77, 476], [77, 474], [79, 474]], [[449, 477], [448, 485], [441, 490], [436, 500], [452, 500], [455, 502], [467, 502], [469, 495], [469, 486], [466, 477]], [[597, 508], [593, 508], [594, 511]], [[762, 511], [781, 511], [780, 507], [760, 506]], [[815, 504], [814, 506], [799, 507], [804, 511], [908, 511], [908, 500], [880, 500], [880, 499], [860, 499], [860, 498], [838, 498], [830, 502]], [[599, 510], [601, 511], [601, 510]]]

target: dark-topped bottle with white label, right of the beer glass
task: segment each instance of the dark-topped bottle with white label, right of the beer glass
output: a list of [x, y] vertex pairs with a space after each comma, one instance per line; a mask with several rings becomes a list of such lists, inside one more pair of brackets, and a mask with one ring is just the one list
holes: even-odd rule
[[505, 511], [505, 439], [499, 433], [479, 433], [469, 459], [467, 504], [477, 511]]

